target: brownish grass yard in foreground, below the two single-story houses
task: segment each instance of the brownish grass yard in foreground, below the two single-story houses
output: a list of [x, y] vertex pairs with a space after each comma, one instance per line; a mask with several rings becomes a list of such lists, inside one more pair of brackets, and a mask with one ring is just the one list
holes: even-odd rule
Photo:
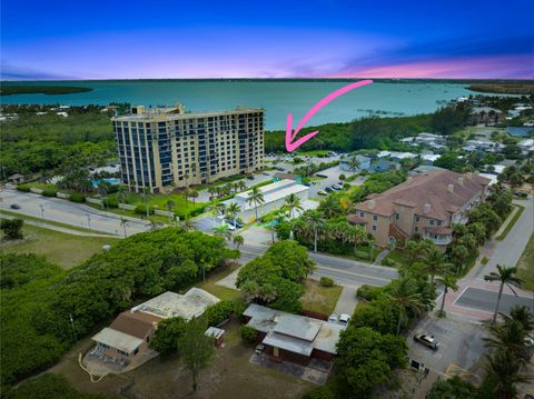
[[300, 398], [316, 386], [299, 378], [249, 362], [253, 347], [239, 337], [235, 320], [222, 327], [225, 347], [216, 349], [214, 361], [200, 370], [197, 392], [191, 389], [191, 372], [178, 356], [157, 357], [125, 375], [110, 375], [98, 383], [78, 366], [78, 353], [91, 346], [80, 341], [48, 372], [63, 375], [73, 388], [92, 393], [117, 395], [127, 398]]

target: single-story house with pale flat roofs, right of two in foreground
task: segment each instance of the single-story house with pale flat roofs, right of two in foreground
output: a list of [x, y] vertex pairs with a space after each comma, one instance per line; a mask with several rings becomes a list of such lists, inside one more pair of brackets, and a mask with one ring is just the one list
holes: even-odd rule
[[309, 358], [332, 360], [337, 353], [339, 333], [345, 329], [306, 316], [251, 303], [243, 313], [250, 326], [260, 333], [261, 343], [275, 359], [290, 357], [300, 361]]

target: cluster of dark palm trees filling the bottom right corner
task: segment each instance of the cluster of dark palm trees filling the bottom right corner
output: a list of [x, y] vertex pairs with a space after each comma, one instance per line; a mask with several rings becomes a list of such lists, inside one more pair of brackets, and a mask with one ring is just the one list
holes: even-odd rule
[[516, 385], [528, 382], [532, 375], [522, 372], [533, 352], [532, 338], [534, 318], [526, 306], [515, 306], [510, 316], [500, 313], [502, 321], [492, 323], [491, 337], [484, 338], [491, 353], [486, 355], [485, 369], [493, 381], [496, 398], [516, 397]]

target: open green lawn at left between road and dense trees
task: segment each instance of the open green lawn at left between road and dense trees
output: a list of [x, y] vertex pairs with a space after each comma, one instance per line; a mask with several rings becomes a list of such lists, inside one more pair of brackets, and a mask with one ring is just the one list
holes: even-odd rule
[[4, 241], [2, 252], [42, 255], [52, 263], [70, 269], [93, 253], [100, 252], [103, 245], [113, 245], [119, 239], [107, 237], [72, 236], [36, 226], [23, 227], [22, 240]]

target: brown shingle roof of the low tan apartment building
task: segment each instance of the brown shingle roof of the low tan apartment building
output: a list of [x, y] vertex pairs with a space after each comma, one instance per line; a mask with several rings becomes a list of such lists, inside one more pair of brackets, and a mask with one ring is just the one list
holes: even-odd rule
[[[462, 183], [459, 179], [463, 179]], [[454, 213], [488, 182], [488, 179], [477, 174], [461, 174], [446, 169], [429, 170], [374, 196], [356, 209], [392, 216], [396, 212], [396, 206], [407, 206], [414, 208], [415, 215], [447, 220], [448, 213]], [[453, 186], [452, 192], [449, 184]], [[429, 207], [425, 207], [427, 205]]]

